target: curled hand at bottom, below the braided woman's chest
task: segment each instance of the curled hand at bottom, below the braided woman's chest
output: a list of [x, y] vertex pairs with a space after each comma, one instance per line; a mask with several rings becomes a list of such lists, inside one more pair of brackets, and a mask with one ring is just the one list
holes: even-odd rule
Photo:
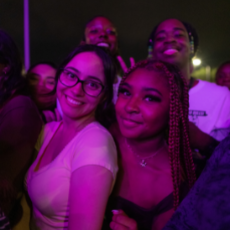
[[122, 210], [113, 210], [113, 218], [110, 223], [112, 230], [138, 230], [137, 222], [129, 218]]

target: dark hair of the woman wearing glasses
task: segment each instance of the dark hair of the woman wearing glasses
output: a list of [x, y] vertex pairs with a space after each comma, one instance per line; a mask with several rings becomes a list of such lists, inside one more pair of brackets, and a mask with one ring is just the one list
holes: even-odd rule
[[104, 95], [105, 99], [98, 105], [95, 113], [96, 120], [99, 121], [104, 126], [109, 126], [113, 121], [113, 82], [116, 77], [116, 67], [113, 62], [111, 55], [106, 49], [98, 47], [96, 45], [81, 45], [75, 48], [61, 63], [57, 70], [56, 82], [58, 81], [62, 69], [77, 55], [83, 52], [93, 52], [95, 53], [103, 63], [104, 75], [105, 75], [105, 89]]

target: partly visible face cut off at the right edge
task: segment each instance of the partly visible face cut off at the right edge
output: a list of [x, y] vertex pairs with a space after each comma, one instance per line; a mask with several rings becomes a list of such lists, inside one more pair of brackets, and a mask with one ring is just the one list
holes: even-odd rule
[[230, 63], [222, 66], [216, 73], [217, 85], [227, 86], [230, 89]]

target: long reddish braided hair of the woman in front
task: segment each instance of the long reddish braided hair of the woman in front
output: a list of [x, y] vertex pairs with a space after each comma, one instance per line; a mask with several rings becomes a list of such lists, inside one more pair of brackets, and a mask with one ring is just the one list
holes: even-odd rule
[[195, 183], [195, 167], [188, 135], [188, 86], [176, 67], [150, 59], [138, 62], [122, 78], [121, 83], [136, 69], [144, 68], [162, 73], [170, 87], [168, 149], [173, 180], [174, 209], [179, 205], [179, 186], [182, 175], [191, 188]]

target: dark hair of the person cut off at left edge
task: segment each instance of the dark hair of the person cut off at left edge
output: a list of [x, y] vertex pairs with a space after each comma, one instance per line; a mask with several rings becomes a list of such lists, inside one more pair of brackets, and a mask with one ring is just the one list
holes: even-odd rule
[[0, 63], [8, 66], [4, 76], [1, 76], [0, 108], [14, 94], [22, 91], [25, 80], [22, 77], [22, 62], [13, 39], [0, 29]]

